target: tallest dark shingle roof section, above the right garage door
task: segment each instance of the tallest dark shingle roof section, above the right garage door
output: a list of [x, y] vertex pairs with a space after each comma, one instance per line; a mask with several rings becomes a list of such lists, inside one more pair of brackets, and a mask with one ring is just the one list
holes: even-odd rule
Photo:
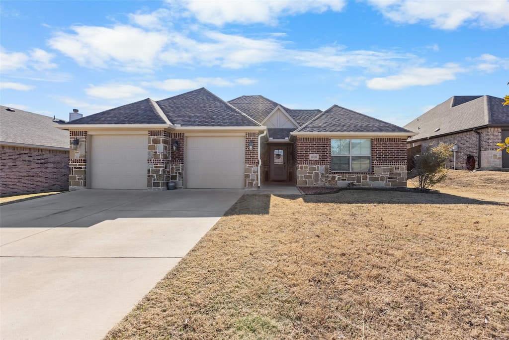
[[205, 88], [157, 101], [169, 121], [181, 126], [261, 126]]

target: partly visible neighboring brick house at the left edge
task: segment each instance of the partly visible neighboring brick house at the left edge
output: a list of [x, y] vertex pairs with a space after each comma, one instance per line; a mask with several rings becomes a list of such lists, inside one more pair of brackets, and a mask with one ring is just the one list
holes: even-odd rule
[[69, 132], [59, 120], [0, 107], [0, 194], [69, 189]]

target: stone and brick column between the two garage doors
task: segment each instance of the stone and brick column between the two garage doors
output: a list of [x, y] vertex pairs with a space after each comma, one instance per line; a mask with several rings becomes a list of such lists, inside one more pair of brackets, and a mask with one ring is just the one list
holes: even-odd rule
[[[166, 190], [169, 168], [169, 137], [166, 131], [149, 131], [147, 159], [147, 188], [149, 190]], [[163, 145], [163, 152], [157, 152], [157, 146]]]

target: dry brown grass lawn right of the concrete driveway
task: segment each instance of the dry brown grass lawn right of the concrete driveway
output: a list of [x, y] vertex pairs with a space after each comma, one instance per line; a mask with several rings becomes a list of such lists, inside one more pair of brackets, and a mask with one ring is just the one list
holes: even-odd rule
[[106, 339], [508, 339], [509, 172], [244, 195]]

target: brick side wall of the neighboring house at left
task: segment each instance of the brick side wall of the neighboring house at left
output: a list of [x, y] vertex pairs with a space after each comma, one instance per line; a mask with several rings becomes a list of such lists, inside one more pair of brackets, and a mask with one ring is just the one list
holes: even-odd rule
[[2, 197], [69, 189], [69, 151], [0, 146]]

